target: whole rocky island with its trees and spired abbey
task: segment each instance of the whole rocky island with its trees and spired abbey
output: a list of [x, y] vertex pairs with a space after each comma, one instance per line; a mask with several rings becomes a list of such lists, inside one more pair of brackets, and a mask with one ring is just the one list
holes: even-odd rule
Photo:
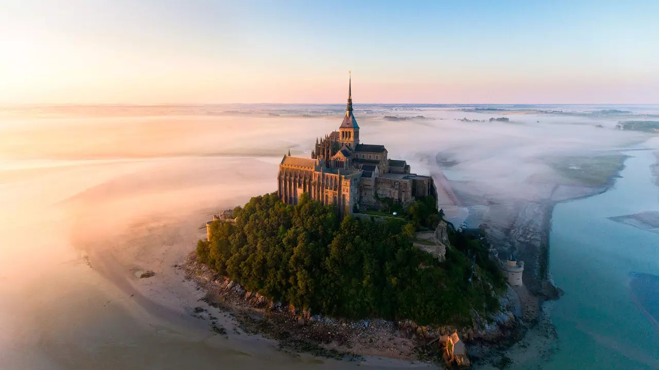
[[349, 87], [339, 131], [311, 159], [284, 155], [277, 192], [207, 223], [186, 276], [287, 350], [468, 365], [465, 341], [516, 332], [507, 283], [521, 284], [523, 263], [445, 221], [431, 176], [359, 139]]

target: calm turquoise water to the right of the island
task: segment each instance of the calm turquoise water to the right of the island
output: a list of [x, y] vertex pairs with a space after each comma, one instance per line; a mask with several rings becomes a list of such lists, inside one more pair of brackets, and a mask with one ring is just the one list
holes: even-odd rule
[[543, 369], [659, 369], [659, 332], [628, 289], [631, 271], [659, 275], [659, 234], [607, 219], [659, 210], [654, 155], [627, 155], [614, 188], [554, 209], [550, 271], [565, 296], [548, 307], [559, 352]]

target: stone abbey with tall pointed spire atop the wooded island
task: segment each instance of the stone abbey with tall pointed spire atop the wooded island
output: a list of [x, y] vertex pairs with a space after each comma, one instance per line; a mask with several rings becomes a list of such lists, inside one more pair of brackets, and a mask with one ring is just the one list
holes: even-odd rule
[[432, 177], [411, 173], [405, 161], [389, 159], [384, 145], [361, 144], [359, 139], [350, 81], [339, 130], [316, 139], [311, 158], [292, 157], [289, 151], [281, 159], [277, 174], [281, 200], [296, 204], [299, 196], [307, 193], [346, 215], [355, 209], [378, 208], [378, 199], [383, 198], [403, 205], [415, 197], [432, 195], [437, 199]]

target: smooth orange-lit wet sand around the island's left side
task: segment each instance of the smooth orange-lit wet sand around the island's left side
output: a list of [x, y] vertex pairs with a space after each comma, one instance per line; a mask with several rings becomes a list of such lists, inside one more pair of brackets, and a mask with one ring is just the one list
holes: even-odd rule
[[[236, 169], [244, 168], [253, 178], [241, 182], [246, 174]], [[3, 249], [0, 368], [357, 365], [281, 352], [258, 335], [225, 338], [192, 316], [205, 306], [198, 302], [203, 293], [175, 265], [204, 237], [201, 226], [212, 213], [272, 191], [275, 171], [266, 161], [210, 157], [14, 176], [3, 184], [3, 201], [23, 217], [2, 220], [3, 240], [20, 248]], [[138, 270], [156, 275], [137, 278]], [[214, 315], [233, 327], [229, 317]], [[377, 358], [361, 365], [408, 367]]]

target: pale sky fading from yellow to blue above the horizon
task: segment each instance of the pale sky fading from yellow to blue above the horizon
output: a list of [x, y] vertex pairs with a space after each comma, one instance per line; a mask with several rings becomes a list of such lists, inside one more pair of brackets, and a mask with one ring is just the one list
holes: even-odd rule
[[659, 1], [0, 2], [0, 103], [659, 103]]

